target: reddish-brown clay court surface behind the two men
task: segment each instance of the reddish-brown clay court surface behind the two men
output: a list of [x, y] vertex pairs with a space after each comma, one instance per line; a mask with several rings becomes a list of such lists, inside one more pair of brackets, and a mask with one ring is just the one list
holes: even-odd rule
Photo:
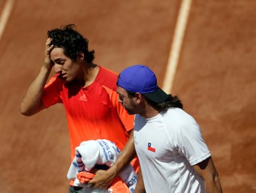
[[[8, 1], [0, 0], [0, 14]], [[95, 63], [116, 72], [148, 65], [162, 86], [180, 6], [178, 0], [13, 1], [0, 39], [1, 193], [68, 192], [64, 108], [19, 113], [44, 60], [46, 31], [75, 23]], [[226, 193], [256, 192], [255, 10], [256, 1], [192, 0], [172, 87], [201, 125]]]

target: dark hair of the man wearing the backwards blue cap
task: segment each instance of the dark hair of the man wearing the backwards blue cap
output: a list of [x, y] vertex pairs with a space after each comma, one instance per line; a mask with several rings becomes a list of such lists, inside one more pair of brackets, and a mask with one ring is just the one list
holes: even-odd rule
[[[130, 92], [127, 90], [127, 94], [129, 98], [131, 98], [132, 96], [135, 96], [136, 92]], [[156, 103], [154, 101], [149, 100], [145, 95], [143, 96], [147, 100], [149, 105], [158, 110], [158, 112], [167, 112], [169, 108], [183, 109], [183, 104], [181, 103], [181, 100], [178, 98], [178, 96], [172, 96], [172, 94], [168, 94], [168, 98], [163, 103]]]

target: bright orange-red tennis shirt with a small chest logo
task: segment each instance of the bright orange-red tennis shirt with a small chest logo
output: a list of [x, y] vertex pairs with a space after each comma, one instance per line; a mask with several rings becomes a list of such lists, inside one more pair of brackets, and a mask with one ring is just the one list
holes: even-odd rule
[[[100, 67], [95, 81], [82, 88], [75, 81], [53, 77], [44, 88], [46, 108], [63, 103], [71, 140], [71, 160], [82, 141], [108, 139], [123, 149], [129, 131], [134, 128], [134, 116], [118, 103], [118, 74]], [[137, 164], [136, 164], [137, 165]]]

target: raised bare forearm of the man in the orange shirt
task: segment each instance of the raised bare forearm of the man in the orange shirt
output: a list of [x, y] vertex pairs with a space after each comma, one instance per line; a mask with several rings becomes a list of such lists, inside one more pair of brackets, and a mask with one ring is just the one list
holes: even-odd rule
[[30, 116], [39, 112], [39, 110], [42, 110], [44, 106], [42, 104], [42, 94], [50, 72], [51, 69], [45, 68], [44, 66], [41, 68], [33, 83], [30, 84], [21, 102], [21, 114]]

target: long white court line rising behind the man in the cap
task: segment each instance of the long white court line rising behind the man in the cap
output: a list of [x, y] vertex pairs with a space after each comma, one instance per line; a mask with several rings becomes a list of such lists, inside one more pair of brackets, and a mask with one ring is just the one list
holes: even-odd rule
[[192, 0], [183, 0], [181, 2], [181, 8], [179, 10], [179, 15], [174, 31], [174, 38], [172, 40], [170, 57], [168, 59], [165, 79], [163, 82], [163, 90], [167, 93], [172, 93], [172, 85], [174, 81], [174, 76], [176, 74], [176, 68], [179, 61], [181, 45], [183, 43], [183, 37], [185, 34], [185, 28], [187, 26], [191, 3]]

